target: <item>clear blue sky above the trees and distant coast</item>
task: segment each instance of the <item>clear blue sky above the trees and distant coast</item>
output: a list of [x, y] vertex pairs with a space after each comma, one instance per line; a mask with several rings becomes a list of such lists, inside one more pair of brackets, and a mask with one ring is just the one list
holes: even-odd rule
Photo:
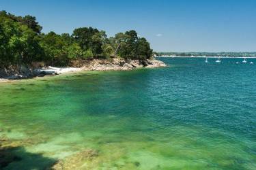
[[156, 52], [255, 52], [255, 0], [0, 0], [0, 10], [35, 16], [42, 32], [134, 29]]

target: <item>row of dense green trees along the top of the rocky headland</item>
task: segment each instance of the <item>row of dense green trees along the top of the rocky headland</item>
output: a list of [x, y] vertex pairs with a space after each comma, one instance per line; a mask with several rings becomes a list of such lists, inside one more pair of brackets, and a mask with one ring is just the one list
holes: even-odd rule
[[41, 33], [33, 16], [14, 16], [0, 12], [0, 67], [44, 62], [68, 65], [74, 59], [112, 58], [143, 60], [152, 57], [150, 44], [136, 31], [107, 37], [105, 31], [91, 27], [74, 29], [72, 35]]

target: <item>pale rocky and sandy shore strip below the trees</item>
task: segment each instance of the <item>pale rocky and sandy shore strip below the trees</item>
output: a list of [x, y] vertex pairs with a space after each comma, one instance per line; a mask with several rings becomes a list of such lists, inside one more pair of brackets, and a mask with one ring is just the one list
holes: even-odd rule
[[94, 59], [91, 61], [73, 61], [71, 67], [20, 67], [19, 71], [0, 71], [0, 82], [20, 80], [35, 77], [59, 75], [74, 71], [109, 71], [109, 70], [133, 70], [139, 68], [167, 67], [157, 59], [124, 60], [124, 58]]

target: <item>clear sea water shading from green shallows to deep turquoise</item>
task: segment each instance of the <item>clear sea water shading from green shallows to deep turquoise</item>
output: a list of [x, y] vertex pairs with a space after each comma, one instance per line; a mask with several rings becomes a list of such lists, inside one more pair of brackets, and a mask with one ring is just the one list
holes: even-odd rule
[[170, 67], [1, 83], [0, 136], [20, 142], [4, 169], [88, 148], [98, 156], [81, 169], [256, 169], [256, 65], [161, 60]]

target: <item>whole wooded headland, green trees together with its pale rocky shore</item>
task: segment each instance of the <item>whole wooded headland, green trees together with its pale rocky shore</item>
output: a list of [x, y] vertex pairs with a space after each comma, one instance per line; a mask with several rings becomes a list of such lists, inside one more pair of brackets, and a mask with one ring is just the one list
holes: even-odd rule
[[167, 66], [154, 58], [150, 43], [134, 30], [114, 37], [92, 27], [74, 29], [72, 35], [41, 31], [34, 16], [0, 11], [0, 80]]

